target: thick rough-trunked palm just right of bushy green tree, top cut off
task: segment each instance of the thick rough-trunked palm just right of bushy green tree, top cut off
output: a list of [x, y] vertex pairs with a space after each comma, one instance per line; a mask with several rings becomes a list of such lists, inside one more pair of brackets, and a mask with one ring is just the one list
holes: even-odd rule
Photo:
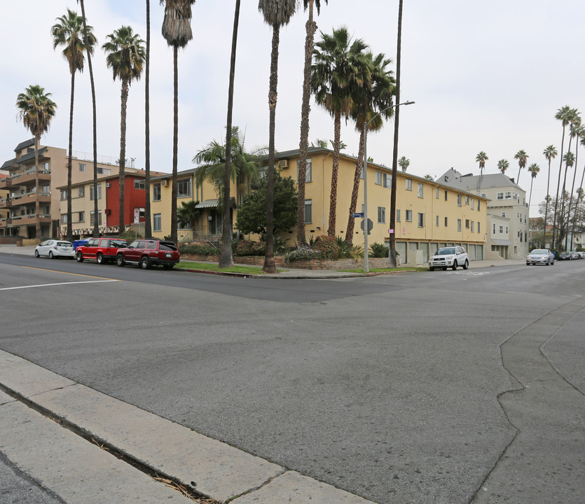
[[[327, 3], [328, 0], [325, 0]], [[310, 107], [310, 80], [312, 51], [315, 47], [315, 31], [317, 23], [313, 20], [313, 5], [317, 6], [317, 15], [321, 13], [320, 0], [303, 0], [305, 10], [309, 9], [309, 19], [305, 24], [307, 36], [305, 37], [305, 66], [303, 70], [303, 102], [301, 103], [301, 141], [299, 142], [300, 155], [298, 157], [298, 208], [296, 214], [296, 242], [305, 245], [305, 177], [307, 175], [307, 149], [309, 148], [309, 113]]]

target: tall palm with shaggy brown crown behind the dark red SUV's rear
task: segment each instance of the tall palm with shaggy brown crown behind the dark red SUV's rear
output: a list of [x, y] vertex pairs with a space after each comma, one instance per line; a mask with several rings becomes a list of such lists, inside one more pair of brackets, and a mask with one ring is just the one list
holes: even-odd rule
[[177, 154], [179, 150], [179, 48], [193, 38], [191, 6], [195, 0], [160, 0], [165, 6], [163, 37], [172, 46], [173, 60], [173, 134], [172, 134], [172, 188], [171, 188], [171, 239], [177, 241]]

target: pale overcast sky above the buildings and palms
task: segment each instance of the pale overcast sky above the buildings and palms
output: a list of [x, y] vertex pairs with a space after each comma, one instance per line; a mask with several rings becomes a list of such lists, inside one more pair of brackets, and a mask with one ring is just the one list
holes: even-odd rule
[[[144, 0], [86, 1], [88, 22], [99, 49], [93, 67], [97, 94], [97, 150], [113, 160], [120, 153], [120, 90], [106, 68], [101, 45], [121, 25], [146, 39]], [[302, 3], [302, 2], [301, 2]], [[322, 0], [319, 30], [347, 26], [375, 53], [396, 59], [398, 0]], [[193, 41], [179, 51], [179, 171], [190, 169], [193, 155], [212, 139], [225, 139], [228, 75], [234, 0], [198, 0], [193, 6]], [[57, 116], [42, 143], [67, 148], [69, 67], [53, 50], [50, 27], [74, 0], [1, 2], [4, 26], [0, 53], [1, 162], [30, 137], [17, 120], [15, 101], [28, 85], [53, 93]], [[163, 7], [151, 0], [151, 169], [172, 171], [172, 49], [160, 34]], [[276, 148], [298, 148], [306, 15], [302, 10], [281, 30]], [[514, 154], [524, 149], [541, 172], [532, 192], [531, 216], [546, 195], [547, 164], [542, 151], [560, 151], [560, 107], [585, 111], [585, 66], [581, 25], [585, 2], [579, 0], [404, 0], [402, 27], [399, 157], [411, 160], [408, 171], [436, 177], [450, 167], [479, 172], [479, 151], [489, 160], [509, 160], [507, 174], [518, 175]], [[315, 37], [320, 38], [319, 31]], [[233, 124], [246, 132], [249, 148], [268, 145], [268, 76], [271, 29], [256, 0], [242, 0], [235, 73]], [[395, 66], [394, 66], [395, 70]], [[88, 69], [76, 78], [74, 151], [92, 152], [92, 109]], [[333, 120], [311, 102], [310, 141], [333, 138]], [[342, 127], [344, 151], [357, 155], [355, 125]], [[393, 124], [371, 134], [368, 153], [392, 165]], [[565, 149], [566, 149], [565, 142]], [[144, 168], [144, 78], [130, 87], [127, 158]], [[527, 167], [528, 167], [527, 165]], [[553, 162], [556, 190], [559, 158]], [[578, 176], [585, 165], [585, 151]], [[553, 184], [552, 181], [555, 180]], [[530, 175], [520, 185], [528, 193]], [[551, 189], [551, 193], [553, 189]]]

